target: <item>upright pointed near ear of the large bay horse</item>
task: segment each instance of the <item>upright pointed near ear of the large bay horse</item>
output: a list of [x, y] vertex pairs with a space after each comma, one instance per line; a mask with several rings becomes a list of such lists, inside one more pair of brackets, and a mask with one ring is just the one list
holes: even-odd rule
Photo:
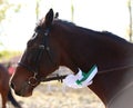
[[47, 27], [50, 27], [52, 24], [52, 21], [53, 21], [53, 10], [50, 9], [49, 12], [45, 16], [44, 23], [45, 23]]

